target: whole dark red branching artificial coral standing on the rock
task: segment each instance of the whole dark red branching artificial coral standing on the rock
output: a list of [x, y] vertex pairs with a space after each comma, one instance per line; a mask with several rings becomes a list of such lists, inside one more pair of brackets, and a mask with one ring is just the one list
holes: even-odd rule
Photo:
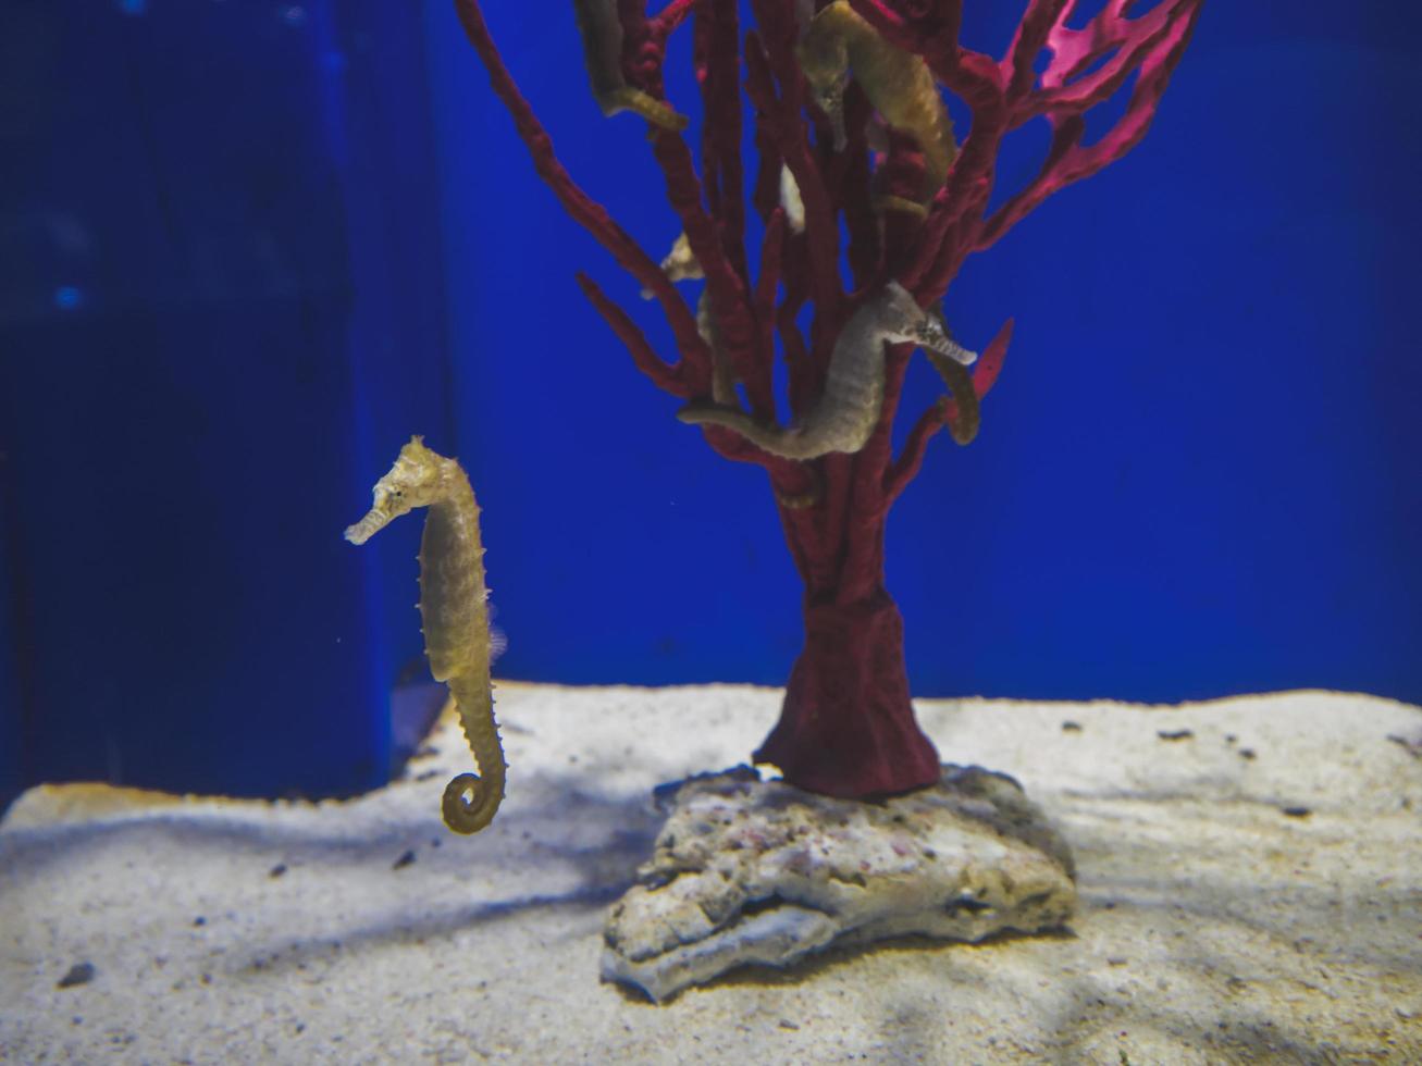
[[[934, 360], [954, 395], [917, 415], [897, 453], [890, 429], [914, 348], [896, 343], [903, 338], [892, 331], [889, 345], [872, 341], [879, 357], [870, 382], [877, 388], [876, 415], [857, 451], [788, 458], [754, 443], [735, 425], [803, 419], [830, 389], [842, 331], [886, 287], [896, 283], [919, 307], [934, 307], [970, 253], [990, 247], [1051, 193], [1133, 148], [1155, 117], [1202, 1], [1158, 0], [1130, 17], [1133, 7], [1146, 6], [1105, 0], [1084, 16], [1078, 0], [1027, 0], [998, 60], [958, 43], [963, 0], [749, 0], [755, 27], [744, 37], [737, 0], [671, 0], [654, 16], [646, 13], [646, 0], [576, 0], [599, 102], [609, 114], [626, 107], [648, 119], [651, 156], [685, 235], [681, 257], [694, 260], [690, 276], [705, 277], [698, 328], [673, 271], [640, 249], [559, 163], [493, 45], [478, 0], [455, 0], [539, 176], [660, 303], [678, 358], [653, 351], [633, 318], [579, 274], [583, 293], [637, 368], [687, 402], [684, 421], [701, 422], [714, 451], [765, 468], [805, 581], [805, 647], [781, 719], [755, 759], [779, 766], [791, 783], [865, 797], [940, 776], [939, 755], [909, 699], [903, 620], [884, 588], [884, 522], [941, 428], [960, 442], [971, 438], [977, 401], [1003, 367], [1012, 324], [1003, 325], [971, 377]], [[665, 101], [663, 91], [667, 38], [687, 20], [701, 90], [700, 172], [681, 132], [690, 101]], [[1105, 135], [1084, 144], [1086, 112], [1125, 91], [1132, 78], [1123, 114]], [[961, 146], [946, 124], [944, 88], [971, 112]], [[757, 149], [749, 209], [764, 223], [754, 273], [742, 202], [742, 90]], [[1039, 173], [990, 213], [1003, 138], [1038, 118], [1052, 131]], [[798, 192], [793, 203], [786, 185]], [[842, 256], [849, 291], [840, 286]], [[796, 325], [806, 304], [813, 307], [808, 338]], [[791, 407], [781, 419], [772, 385], [776, 338]], [[741, 382], [748, 412], [727, 389], [728, 379]], [[717, 409], [731, 414], [700, 416]]]

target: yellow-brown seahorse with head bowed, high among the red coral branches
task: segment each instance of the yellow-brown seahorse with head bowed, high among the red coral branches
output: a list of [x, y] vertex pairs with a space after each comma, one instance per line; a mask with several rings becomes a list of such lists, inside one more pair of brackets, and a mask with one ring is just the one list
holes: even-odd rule
[[[883, 121], [919, 144], [923, 152], [923, 196], [931, 202], [948, 176], [958, 146], [953, 119], [943, 104], [929, 64], [920, 55], [886, 41], [849, 0], [835, 0], [816, 14], [795, 45], [801, 71], [815, 92], [815, 102], [829, 115], [835, 151], [845, 136], [845, 85], [853, 75]], [[924, 206], [884, 198], [886, 206], [923, 213]]]

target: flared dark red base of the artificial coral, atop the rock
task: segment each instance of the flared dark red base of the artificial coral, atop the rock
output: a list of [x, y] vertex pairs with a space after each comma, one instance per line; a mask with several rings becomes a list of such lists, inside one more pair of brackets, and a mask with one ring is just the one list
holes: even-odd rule
[[811, 600], [781, 721], [755, 753], [826, 796], [907, 792], [939, 780], [939, 753], [913, 718], [903, 617], [883, 587], [853, 603]]

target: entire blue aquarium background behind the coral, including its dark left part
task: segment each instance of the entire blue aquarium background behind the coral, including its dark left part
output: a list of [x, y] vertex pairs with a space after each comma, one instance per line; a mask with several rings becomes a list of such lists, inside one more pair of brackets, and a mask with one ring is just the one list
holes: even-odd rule
[[[1001, 53], [1022, 4], [966, 6]], [[572, 11], [486, 7], [663, 254], [644, 126], [597, 112]], [[917, 695], [1422, 702], [1422, 14], [1288, 7], [1207, 3], [1146, 141], [951, 287], [968, 347], [1017, 325], [981, 435], [890, 520]], [[582, 298], [579, 269], [670, 351], [448, 3], [6, 0], [0, 84], [0, 802], [384, 782], [438, 695], [419, 523], [340, 534], [415, 432], [483, 506], [501, 677], [784, 682], [764, 475]], [[916, 367], [906, 414], [937, 388]]]

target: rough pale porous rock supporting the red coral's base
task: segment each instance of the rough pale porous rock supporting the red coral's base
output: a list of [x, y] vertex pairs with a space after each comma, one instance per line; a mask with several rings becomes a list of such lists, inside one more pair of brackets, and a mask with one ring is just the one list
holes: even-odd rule
[[980, 766], [884, 800], [737, 768], [658, 789], [667, 822], [604, 930], [604, 981], [664, 1001], [745, 964], [921, 934], [980, 941], [1062, 925], [1071, 851], [1022, 787]]

